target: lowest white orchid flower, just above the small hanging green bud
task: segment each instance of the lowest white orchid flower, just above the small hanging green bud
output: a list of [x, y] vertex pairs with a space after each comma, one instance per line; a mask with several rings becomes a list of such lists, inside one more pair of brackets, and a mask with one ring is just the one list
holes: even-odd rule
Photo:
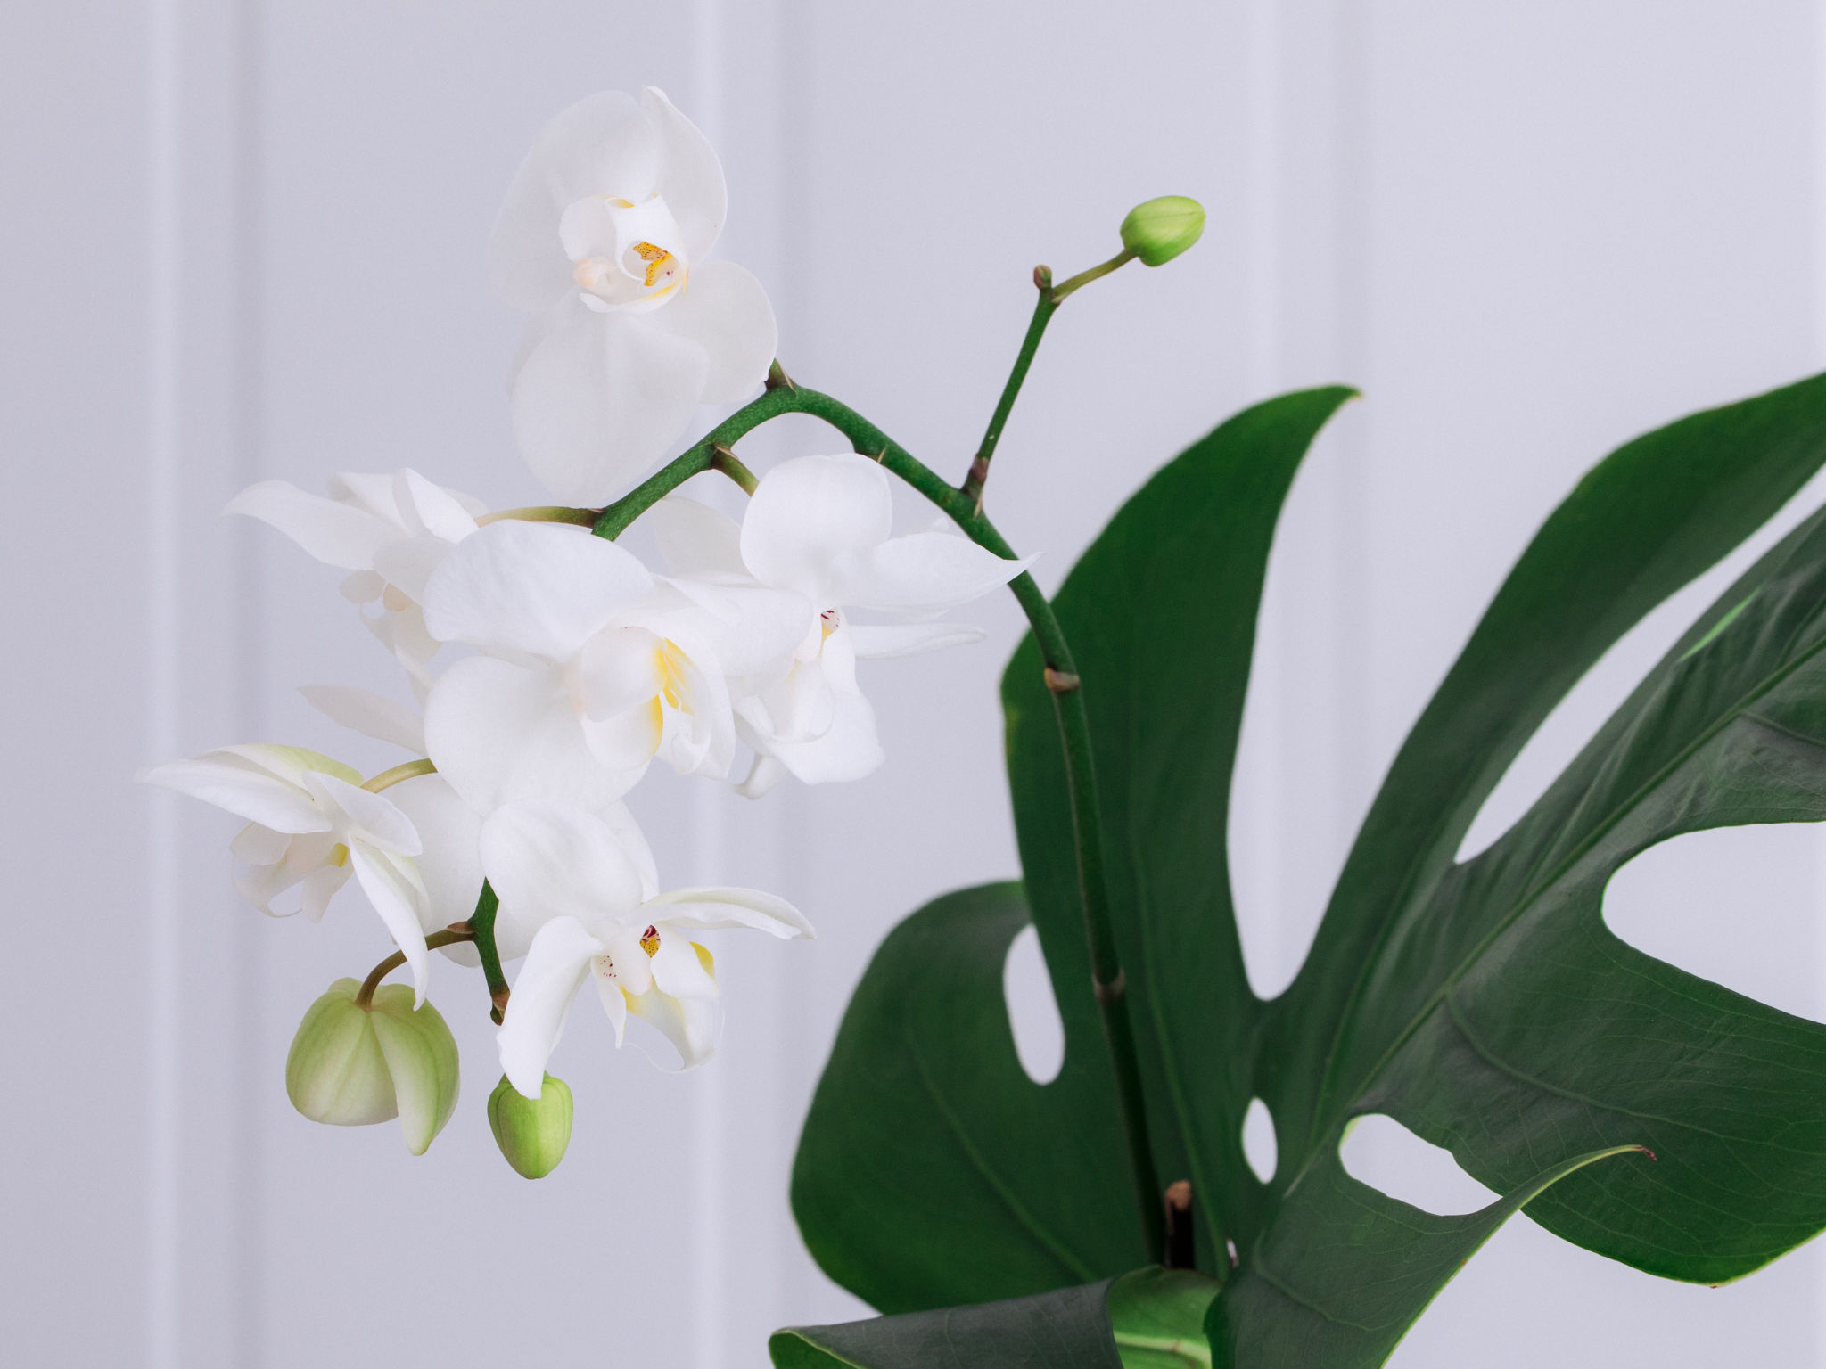
[[513, 803], [482, 825], [482, 867], [504, 918], [539, 924], [497, 1033], [500, 1068], [537, 1099], [564, 1015], [595, 980], [621, 1046], [628, 1013], [652, 1022], [685, 1068], [716, 1050], [716, 962], [698, 933], [749, 927], [811, 936], [783, 898], [754, 889], [654, 894], [639, 860], [601, 818], [566, 803]]

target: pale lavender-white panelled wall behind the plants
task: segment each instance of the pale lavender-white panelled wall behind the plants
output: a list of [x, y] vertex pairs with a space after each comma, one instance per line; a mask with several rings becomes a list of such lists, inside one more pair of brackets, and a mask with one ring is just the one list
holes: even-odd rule
[[[765, 805], [652, 781], [676, 882], [774, 887], [811, 946], [727, 946], [729, 1046], [672, 1077], [579, 1013], [564, 1166], [482, 1117], [480, 988], [440, 975], [464, 1103], [424, 1159], [285, 1101], [305, 1004], [383, 951], [236, 904], [234, 821], [135, 789], [236, 739], [338, 747], [292, 694], [394, 688], [336, 575], [215, 511], [411, 464], [533, 498], [480, 279], [539, 124], [654, 82], [723, 150], [725, 252], [782, 356], [960, 471], [1028, 270], [1198, 195], [1205, 243], [1054, 325], [993, 482], [1055, 582], [1116, 502], [1238, 405], [1364, 387], [1276, 546], [1238, 779], [1258, 988], [1291, 978], [1373, 785], [1530, 529], [1616, 442], [1817, 365], [1826, 46], [1753, 4], [310, 5], [0, 9], [0, 453], [9, 898], [0, 1345], [9, 1364], [758, 1365], [860, 1307], [785, 1205], [798, 1119], [887, 927], [1015, 871], [993, 681], [1017, 635], [880, 668], [889, 765]], [[827, 445], [778, 425], [760, 458]], [[911, 509], [909, 509], [911, 515]], [[1486, 812], [1495, 834], [1700, 602], [1612, 653]], [[1475, 840], [1475, 838], [1474, 838]], [[1612, 891], [1638, 944], [1813, 1017], [1817, 838], [1718, 832]], [[1390, 1159], [1399, 1168], [1399, 1161]], [[1422, 1188], [1426, 1177], [1413, 1179]], [[1399, 1353], [1422, 1365], [1821, 1362], [1826, 1269], [1649, 1280], [1516, 1221]]]

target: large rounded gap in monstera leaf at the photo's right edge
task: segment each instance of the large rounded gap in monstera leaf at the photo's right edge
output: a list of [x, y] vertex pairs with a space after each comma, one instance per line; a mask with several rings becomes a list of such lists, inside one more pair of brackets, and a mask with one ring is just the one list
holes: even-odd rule
[[1822, 874], [1817, 823], [1687, 832], [1611, 876], [1603, 920], [1643, 955], [1819, 1022]]

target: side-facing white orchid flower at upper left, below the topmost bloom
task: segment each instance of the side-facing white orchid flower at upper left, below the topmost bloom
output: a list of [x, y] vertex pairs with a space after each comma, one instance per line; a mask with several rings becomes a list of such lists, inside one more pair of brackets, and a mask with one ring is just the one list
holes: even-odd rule
[[418, 608], [424, 584], [449, 548], [477, 529], [486, 506], [409, 467], [394, 475], [336, 475], [329, 491], [323, 498], [285, 480], [261, 480], [223, 511], [272, 524], [318, 560], [349, 571], [343, 597], [380, 604], [380, 613], [363, 613], [363, 622], [424, 697], [431, 686], [425, 666], [438, 650]]

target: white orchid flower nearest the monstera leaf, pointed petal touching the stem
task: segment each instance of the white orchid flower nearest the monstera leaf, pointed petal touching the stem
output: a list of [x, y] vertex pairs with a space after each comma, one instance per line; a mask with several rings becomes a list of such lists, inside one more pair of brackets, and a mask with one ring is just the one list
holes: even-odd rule
[[761, 476], [740, 528], [685, 498], [654, 506], [668, 564], [707, 580], [796, 593], [802, 619], [791, 668], [734, 705], [756, 752], [741, 790], [760, 796], [787, 774], [814, 785], [858, 779], [882, 763], [875, 712], [856, 661], [913, 655], [982, 639], [957, 622], [858, 624], [849, 608], [928, 619], [979, 599], [1030, 560], [1002, 560], [953, 531], [891, 535], [887, 475], [867, 456], [800, 456]]

